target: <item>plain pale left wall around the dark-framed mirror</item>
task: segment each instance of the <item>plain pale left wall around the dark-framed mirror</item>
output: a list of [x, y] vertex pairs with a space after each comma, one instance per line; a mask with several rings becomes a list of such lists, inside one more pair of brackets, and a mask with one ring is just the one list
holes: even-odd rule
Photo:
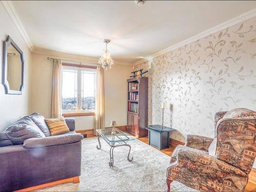
[[[31, 53], [29, 48], [27, 47], [24, 39], [18, 32], [15, 27], [12, 19], [6, 12], [3, 5], [0, 3], [0, 38], [1, 38], [1, 46], [0, 46], [0, 76], [1, 76], [1, 85], [0, 85], [0, 132], [5, 130], [8, 125], [16, 121], [18, 118], [28, 115], [28, 111], [30, 108], [29, 102], [29, 89], [30, 89], [30, 68], [31, 68]], [[3, 63], [3, 44], [2, 42], [6, 40], [7, 35], [10, 35], [11, 38], [15, 41], [17, 46], [24, 53], [25, 60], [25, 72], [24, 72], [24, 88], [22, 95], [7, 95], [5, 94], [5, 89], [2, 84], [2, 63]]]

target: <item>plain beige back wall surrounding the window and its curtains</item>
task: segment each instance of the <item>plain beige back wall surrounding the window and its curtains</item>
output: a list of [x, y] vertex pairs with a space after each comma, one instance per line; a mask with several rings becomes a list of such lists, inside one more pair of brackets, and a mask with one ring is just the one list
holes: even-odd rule
[[[31, 113], [38, 112], [49, 118], [51, 109], [52, 61], [48, 60], [47, 57], [54, 56], [32, 54]], [[131, 71], [131, 66], [114, 65], [111, 70], [108, 69], [104, 73], [106, 126], [109, 126], [113, 119], [117, 121], [118, 125], [126, 125], [126, 79], [129, 78]], [[77, 130], [94, 128], [93, 116], [74, 118], [76, 119]]]

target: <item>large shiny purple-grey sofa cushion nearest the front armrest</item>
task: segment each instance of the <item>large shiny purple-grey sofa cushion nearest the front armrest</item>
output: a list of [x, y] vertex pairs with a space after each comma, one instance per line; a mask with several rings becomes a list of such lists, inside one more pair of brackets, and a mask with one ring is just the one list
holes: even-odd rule
[[23, 117], [7, 127], [5, 131], [13, 144], [23, 144], [26, 139], [45, 137], [45, 134], [29, 118]]

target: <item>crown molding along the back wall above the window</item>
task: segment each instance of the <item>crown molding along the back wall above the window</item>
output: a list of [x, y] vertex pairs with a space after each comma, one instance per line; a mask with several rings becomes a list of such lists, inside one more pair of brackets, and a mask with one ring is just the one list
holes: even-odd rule
[[[47, 55], [47, 56], [53, 56], [53, 57], [58, 57], [58, 58], [62, 58], [62, 59], [75, 59], [78, 61], [82, 61], [82, 62], [88, 62], [88, 63], [92, 63], [92, 64], [98, 64], [98, 60], [99, 58], [95, 58], [95, 57], [86, 57], [83, 55], [76, 55], [76, 54], [70, 54], [70, 53], [63, 53], [63, 52], [59, 52], [59, 51], [53, 51], [53, 50], [49, 50], [49, 49], [43, 49], [43, 48], [39, 48], [39, 47], [34, 47], [34, 50], [32, 53], [37, 53], [37, 54], [43, 54], [43, 55]], [[121, 61], [114, 61], [114, 64], [116, 65], [123, 65], [123, 66], [132, 66], [132, 63], [129, 62], [121, 62]]]

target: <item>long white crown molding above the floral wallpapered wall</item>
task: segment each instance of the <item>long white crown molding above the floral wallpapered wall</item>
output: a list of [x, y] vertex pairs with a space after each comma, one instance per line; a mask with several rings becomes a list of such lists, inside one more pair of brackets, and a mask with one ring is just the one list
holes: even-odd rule
[[168, 53], [168, 52], [173, 51], [173, 50], [175, 50], [177, 48], [180, 48], [182, 46], [190, 44], [191, 42], [194, 42], [194, 41], [196, 41], [198, 39], [204, 38], [204, 37], [206, 37], [206, 36], [208, 36], [210, 34], [219, 32], [219, 31], [221, 31], [223, 29], [226, 29], [228, 27], [231, 27], [231, 26], [234, 26], [234, 25], [239, 24], [241, 22], [244, 22], [245, 20], [248, 20], [248, 19], [250, 19], [252, 17], [255, 17], [255, 16], [256, 16], [256, 9], [252, 9], [250, 11], [247, 11], [247, 12], [245, 12], [245, 13], [239, 15], [239, 16], [236, 16], [236, 17], [233, 17], [233, 18], [227, 20], [224, 23], [221, 23], [221, 24], [219, 24], [219, 25], [217, 25], [215, 27], [212, 27], [210, 29], [207, 29], [207, 30], [205, 30], [205, 31], [203, 31], [203, 32], [201, 32], [201, 33], [199, 33], [197, 35], [194, 35], [194, 36], [192, 36], [192, 37], [190, 37], [188, 39], [180, 41], [180, 42], [178, 42], [178, 44], [175, 44], [175, 45], [170, 46], [170, 47], [168, 47], [166, 49], [163, 49], [163, 50], [161, 50], [161, 51], [159, 51], [159, 52], [157, 52], [157, 53], [155, 53], [153, 55], [150, 55], [150, 56], [148, 56], [146, 58], [138, 60], [138, 61], [134, 62], [133, 65], [134, 66], [139, 65], [142, 62], [151, 60], [151, 59], [153, 59], [155, 57], [158, 57], [158, 56], [160, 56], [162, 54]]

